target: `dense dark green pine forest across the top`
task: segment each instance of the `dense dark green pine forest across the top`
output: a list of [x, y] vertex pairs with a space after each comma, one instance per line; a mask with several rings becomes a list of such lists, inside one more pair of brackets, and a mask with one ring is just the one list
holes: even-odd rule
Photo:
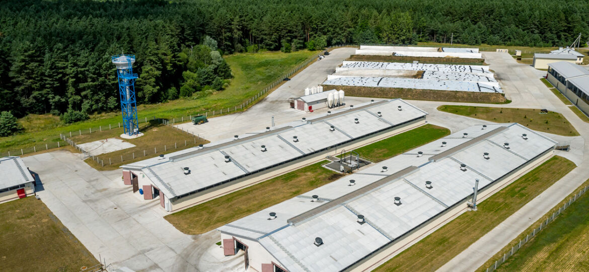
[[[563, 46], [589, 35], [584, 0], [7, 0], [0, 5], [0, 110], [116, 110], [110, 56], [137, 56], [138, 103], [223, 89], [223, 55], [333, 44]], [[81, 114], [81, 117], [78, 116]]]

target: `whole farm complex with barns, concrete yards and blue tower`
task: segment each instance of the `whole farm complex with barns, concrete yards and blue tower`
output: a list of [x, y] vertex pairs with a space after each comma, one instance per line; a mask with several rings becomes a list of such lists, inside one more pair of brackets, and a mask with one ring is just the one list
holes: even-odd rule
[[[43, 201], [100, 261], [85, 272], [389, 271], [395, 262], [494, 271], [522, 242], [509, 256], [504, 247], [541, 218], [546, 228], [546, 214], [589, 176], [575, 168], [589, 163], [581, 56], [537, 55], [547, 66], [538, 71], [500, 51], [330, 48], [256, 100], [171, 120], [138, 118], [135, 55], [115, 55], [123, 135], [79, 130], [59, 135], [69, 150], [0, 158], [0, 203]], [[186, 138], [141, 150], [174, 135]], [[101, 158], [108, 148], [112, 161]], [[572, 166], [542, 168], [556, 158]], [[473, 228], [484, 231], [465, 235]]]

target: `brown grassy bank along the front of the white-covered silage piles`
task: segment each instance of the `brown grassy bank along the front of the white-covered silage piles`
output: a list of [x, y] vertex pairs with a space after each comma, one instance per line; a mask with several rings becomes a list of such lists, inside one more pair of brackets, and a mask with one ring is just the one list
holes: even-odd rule
[[496, 92], [439, 91], [433, 89], [379, 88], [343, 85], [323, 85], [329, 89], [343, 89], [346, 96], [374, 98], [402, 98], [409, 100], [508, 104], [503, 94]]

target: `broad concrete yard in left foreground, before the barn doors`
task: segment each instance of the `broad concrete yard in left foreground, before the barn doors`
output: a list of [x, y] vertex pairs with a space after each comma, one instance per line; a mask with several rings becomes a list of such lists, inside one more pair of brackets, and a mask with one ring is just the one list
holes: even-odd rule
[[[146, 201], [124, 186], [121, 171], [99, 172], [77, 155], [54, 151], [23, 158], [41, 178], [37, 194], [78, 240], [114, 268], [135, 271], [240, 271], [243, 257], [223, 257], [219, 235], [176, 230], [159, 200]], [[199, 255], [203, 250], [213, 255]]]

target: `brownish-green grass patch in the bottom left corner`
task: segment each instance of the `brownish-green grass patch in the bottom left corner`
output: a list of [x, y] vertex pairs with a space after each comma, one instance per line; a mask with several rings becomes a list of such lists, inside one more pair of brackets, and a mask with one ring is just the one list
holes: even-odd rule
[[35, 197], [0, 204], [3, 271], [79, 271], [99, 263]]

